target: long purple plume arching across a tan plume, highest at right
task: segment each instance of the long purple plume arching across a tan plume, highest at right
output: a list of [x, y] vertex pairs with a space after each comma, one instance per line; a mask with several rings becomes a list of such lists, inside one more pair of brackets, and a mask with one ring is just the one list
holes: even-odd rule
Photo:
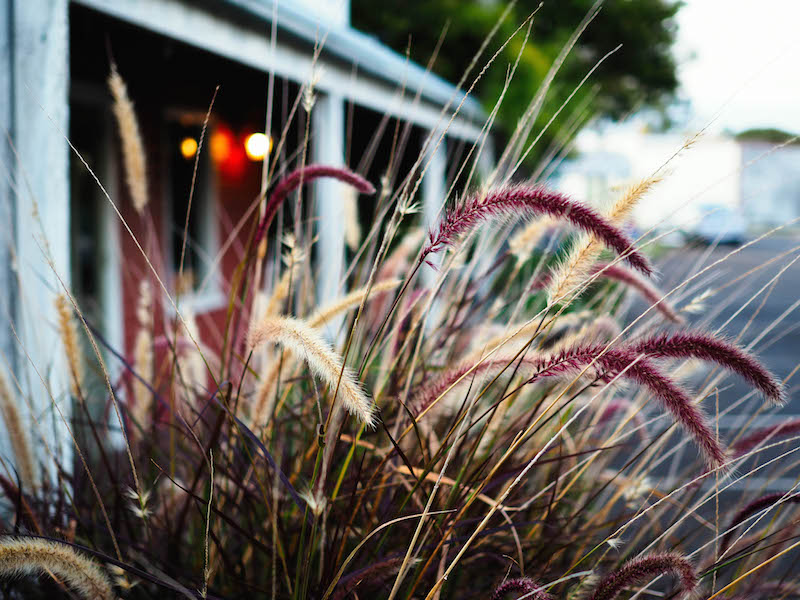
[[431, 230], [420, 262], [425, 261], [429, 254], [452, 245], [462, 233], [489, 219], [543, 215], [569, 221], [623, 255], [636, 269], [646, 275], [652, 273], [647, 259], [636, 250], [633, 240], [620, 228], [596, 210], [542, 185], [502, 187], [486, 195], [476, 193], [449, 209], [438, 229]]

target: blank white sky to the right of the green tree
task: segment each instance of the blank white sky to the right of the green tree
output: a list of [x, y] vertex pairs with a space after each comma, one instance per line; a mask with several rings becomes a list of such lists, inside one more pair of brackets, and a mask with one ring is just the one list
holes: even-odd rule
[[800, 133], [800, 0], [686, 0], [678, 23], [688, 125]]

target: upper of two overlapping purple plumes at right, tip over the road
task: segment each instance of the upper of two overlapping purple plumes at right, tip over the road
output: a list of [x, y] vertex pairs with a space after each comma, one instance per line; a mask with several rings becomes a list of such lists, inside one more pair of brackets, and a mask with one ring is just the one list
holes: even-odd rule
[[772, 404], [786, 401], [781, 383], [753, 356], [734, 344], [706, 333], [661, 333], [631, 346], [656, 358], [699, 358], [737, 373]]

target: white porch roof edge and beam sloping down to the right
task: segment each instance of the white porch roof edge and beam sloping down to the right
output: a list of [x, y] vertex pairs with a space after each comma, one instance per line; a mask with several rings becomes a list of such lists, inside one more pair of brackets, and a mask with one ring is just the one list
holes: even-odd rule
[[[317, 88], [333, 91], [381, 113], [428, 129], [448, 127], [454, 137], [474, 140], [486, 115], [480, 104], [455, 86], [427, 73], [369, 36], [349, 27], [325, 25], [278, 3], [278, 40], [269, 32], [270, 0], [72, 0], [129, 22], [219, 54], [262, 71], [306, 83], [312, 72], [313, 48], [324, 39]], [[354, 68], [355, 67], [355, 68]], [[419, 96], [419, 97], [417, 97]], [[442, 107], [450, 106], [442, 117]], [[450, 122], [452, 111], [458, 115]]]

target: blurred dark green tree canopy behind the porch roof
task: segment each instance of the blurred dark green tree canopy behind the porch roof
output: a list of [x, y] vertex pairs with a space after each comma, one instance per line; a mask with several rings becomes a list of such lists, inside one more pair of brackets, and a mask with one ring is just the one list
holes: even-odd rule
[[[527, 44], [523, 47], [524, 31], [514, 36], [479, 82], [477, 96], [491, 108], [500, 96], [509, 65], [521, 52], [519, 67], [498, 114], [501, 134], [514, 130], [553, 60], [594, 3], [545, 2], [533, 17]], [[539, 4], [539, 0], [520, 0], [511, 9], [468, 83]], [[620, 44], [622, 47], [592, 74], [544, 142], [553, 135], [569, 135], [572, 125], [593, 116], [619, 119], [641, 107], [663, 109], [678, 85], [672, 45], [677, 29], [674, 17], [680, 6], [680, 0], [610, 0], [603, 4], [559, 71], [537, 124], [547, 122], [606, 53]], [[377, 36], [398, 52], [410, 51], [411, 58], [423, 65], [434, 55], [446, 28], [432, 68], [455, 82], [506, 7], [506, 2], [491, 0], [352, 0], [352, 19], [356, 28]]]

